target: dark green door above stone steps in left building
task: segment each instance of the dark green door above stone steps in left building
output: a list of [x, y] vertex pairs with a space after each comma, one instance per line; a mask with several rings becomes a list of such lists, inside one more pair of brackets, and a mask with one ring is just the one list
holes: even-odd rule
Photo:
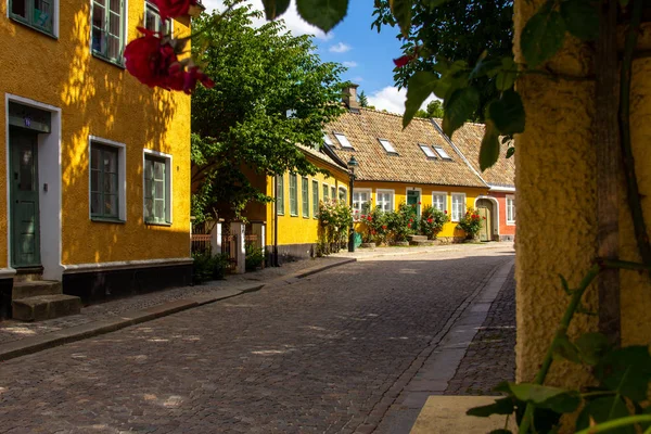
[[11, 263], [40, 266], [38, 141], [35, 132], [11, 128]]

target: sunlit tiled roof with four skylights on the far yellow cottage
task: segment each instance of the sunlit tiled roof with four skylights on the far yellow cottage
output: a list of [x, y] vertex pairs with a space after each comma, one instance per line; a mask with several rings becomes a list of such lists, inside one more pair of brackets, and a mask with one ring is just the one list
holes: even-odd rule
[[[347, 112], [326, 126], [336, 155], [359, 166], [360, 181], [394, 181], [437, 186], [486, 187], [429, 119], [414, 118], [403, 129], [403, 116], [374, 110]], [[353, 150], [342, 148], [334, 136], [346, 136]], [[391, 142], [397, 154], [386, 152], [379, 139]], [[419, 144], [443, 148], [451, 159], [429, 158]]]

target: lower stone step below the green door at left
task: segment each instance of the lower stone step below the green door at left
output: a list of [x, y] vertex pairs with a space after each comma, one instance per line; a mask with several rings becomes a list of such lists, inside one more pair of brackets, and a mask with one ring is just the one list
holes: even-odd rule
[[22, 321], [43, 321], [80, 311], [81, 298], [73, 295], [37, 295], [12, 302], [12, 317]]

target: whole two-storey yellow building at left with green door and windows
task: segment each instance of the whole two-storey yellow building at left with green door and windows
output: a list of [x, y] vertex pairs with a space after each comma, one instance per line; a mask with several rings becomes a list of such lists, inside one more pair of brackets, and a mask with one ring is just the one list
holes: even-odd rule
[[188, 35], [190, 17], [162, 22], [145, 0], [0, 3], [5, 312], [16, 275], [85, 301], [190, 281], [190, 98], [126, 72], [138, 25]]

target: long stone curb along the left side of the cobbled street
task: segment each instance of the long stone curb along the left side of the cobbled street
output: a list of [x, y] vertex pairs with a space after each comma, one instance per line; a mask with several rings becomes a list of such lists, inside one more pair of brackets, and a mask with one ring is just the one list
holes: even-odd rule
[[355, 263], [356, 258], [346, 258], [334, 264], [326, 264], [308, 268], [292, 275], [282, 276], [271, 280], [269, 283], [239, 284], [237, 289], [225, 289], [215, 291], [215, 295], [195, 295], [188, 298], [174, 302], [162, 303], [142, 310], [130, 310], [116, 316], [116, 318], [92, 321], [86, 324], [71, 327], [68, 329], [43, 334], [40, 336], [26, 337], [20, 341], [12, 341], [0, 345], [0, 362], [16, 357], [27, 356], [39, 353], [55, 346], [69, 344], [85, 339], [94, 337], [101, 334], [115, 332], [130, 326], [140, 324], [157, 318], [166, 317], [182, 310], [192, 309], [207, 304], [235, 297], [242, 294], [260, 291], [263, 288], [272, 288], [276, 284], [292, 284], [298, 280], [316, 275], [342, 265]]

